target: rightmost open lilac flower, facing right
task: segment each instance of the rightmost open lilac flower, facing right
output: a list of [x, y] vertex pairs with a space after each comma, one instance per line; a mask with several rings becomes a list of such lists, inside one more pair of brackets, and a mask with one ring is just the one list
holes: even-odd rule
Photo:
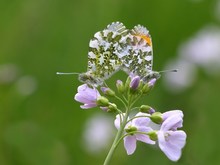
[[186, 143], [186, 133], [182, 127], [183, 113], [180, 110], [168, 111], [163, 115], [163, 123], [157, 132], [158, 144], [164, 154], [172, 161], [179, 160]]

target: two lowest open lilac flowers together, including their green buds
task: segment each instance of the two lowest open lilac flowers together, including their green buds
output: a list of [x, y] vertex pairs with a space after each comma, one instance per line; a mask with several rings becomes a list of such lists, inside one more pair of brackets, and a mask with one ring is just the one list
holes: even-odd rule
[[[117, 115], [115, 127], [120, 128], [124, 114]], [[161, 113], [137, 113], [133, 119], [127, 119], [124, 128], [124, 146], [128, 155], [134, 153], [136, 141], [147, 144], [159, 144], [160, 149], [172, 161], [177, 161], [186, 142], [186, 133], [177, 128], [182, 127], [183, 113], [172, 110]]]

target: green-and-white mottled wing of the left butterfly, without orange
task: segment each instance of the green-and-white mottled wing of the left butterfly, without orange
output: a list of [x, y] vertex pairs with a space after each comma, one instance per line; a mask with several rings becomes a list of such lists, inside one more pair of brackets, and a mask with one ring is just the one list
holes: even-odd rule
[[88, 71], [93, 77], [103, 79], [111, 77], [122, 65], [120, 41], [128, 30], [120, 22], [109, 24], [90, 40], [88, 52]]

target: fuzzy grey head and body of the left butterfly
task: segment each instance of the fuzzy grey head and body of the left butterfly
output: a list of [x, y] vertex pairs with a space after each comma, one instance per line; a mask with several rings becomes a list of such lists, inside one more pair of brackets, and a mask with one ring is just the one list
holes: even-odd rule
[[79, 81], [93, 87], [103, 84], [102, 79], [92, 76], [89, 72], [79, 74]]

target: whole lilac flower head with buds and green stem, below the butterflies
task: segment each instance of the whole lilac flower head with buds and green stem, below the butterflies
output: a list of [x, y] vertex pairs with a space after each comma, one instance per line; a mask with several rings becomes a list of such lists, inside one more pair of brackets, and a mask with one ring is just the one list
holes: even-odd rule
[[[155, 83], [155, 78], [145, 82], [139, 76], [129, 76], [125, 83], [118, 80], [116, 88], [121, 97], [108, 87], [100, 88], [103, 96], [97, 88], [87, 84], [78, 87], [75, 100], [84, 104], [81, 105], [82, 109], [100, 107], [103, 111], [116, 113], [114, 125], [118, 133], [104, 164], [108, 164], [112, 153], [122, 139], [128, 155], [134, 153], [136, 142], [141, 141], [150, 145], [158, 144], [172, 161], [177, 161], [181, 157], [182, 148], [186, 143], [186, 133], [178, 130], [183, 126], [183, 112], [171, 110], [160, 113], [149, 105], [133, 108], [136, 101], [141, 96], [146, 96]], [[115, 103], [109, 101], [111, 97], [118, 99], [125, 110], [119, 109]], [[136, 115], [131, 115], [135, 114], [134, 112]]]

